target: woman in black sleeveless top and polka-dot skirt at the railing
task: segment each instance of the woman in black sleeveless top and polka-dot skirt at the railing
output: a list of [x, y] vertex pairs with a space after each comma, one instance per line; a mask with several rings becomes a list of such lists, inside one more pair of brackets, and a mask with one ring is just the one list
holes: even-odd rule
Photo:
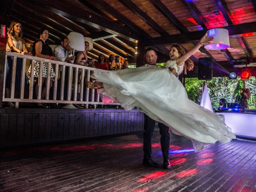
[[[42, 57], [50, 60], [58, 60], [57, 57], [53, 56], [52, 48], [48, 45], [46, 40], [49, 37], [49, 32], [46, 28], [42, 28], [39, 32], [40, 38], [37, 39], [33, 43], [33, 54], [36, 55], [37, 57]], [[35, 68], [34, 68], [34, 82], [36, 83], [35, 85], [35, 93], [36, 96], [38, 96], [38, 88], [39, 88], [39, 82], [38, 82], [38, 77], [39, 77], [39, 71], [40, 71], [40, 62], [39, 61], [32, 61], [35, 62]], [[31, 65], [28, 70], [27, 76], [30, 77], [31, 74]], [[52, 80], [55, 77], [55, 73], [53, 68], [51, 67], [50, 70], [50, 88], [52, 87]], [[42, 94], [41, 94], [41, 99], [45, 98], [46, 95], [46, 78], [47, 78], [47, 63], [44, 63], [43, 66], [43, 71], [42, 71]], [[30, 82], [33, 83], [33, 82]], [[44, 107], [42, 103], [37, 103], [38, 107]]]

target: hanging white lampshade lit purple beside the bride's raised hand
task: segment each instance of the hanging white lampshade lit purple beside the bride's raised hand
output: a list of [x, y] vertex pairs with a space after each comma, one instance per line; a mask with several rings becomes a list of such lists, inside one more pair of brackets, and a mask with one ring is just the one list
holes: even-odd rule
[[228, 30], [223, 28], [210, 29], [207, 31], [208, 37], [214, 37], [211, 44], [205, 45], [204, 48], [209, 50], [222, 50], [229, 48]]

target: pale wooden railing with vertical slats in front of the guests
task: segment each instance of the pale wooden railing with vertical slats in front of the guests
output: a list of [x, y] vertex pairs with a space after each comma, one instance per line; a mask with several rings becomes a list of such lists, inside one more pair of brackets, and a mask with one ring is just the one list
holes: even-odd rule
[[[6, 82], [6, 65], [7, 65], [7, 56], [13, 57], [12, 64], [12, 82], [10, 88], [10, 98], [6, 98], [5, 96], [5, 82]], [[15, 90], [15, 76], [16, 76], [16, 61], [17, 58], [22, 58], [22, 71], [21, 71], [21, 82], [20, 82], [20, 95], [19, 98], [14, 98], [14, 90]], [[30, 88], [28, 98], [24, 98], [24, 87], [26, 82], [26, 63], [27, 60], [31, 63], [31, 78], [30, 78]], [[35, 62], [32, 60], [40, 61], [40, 70], [39, 70], [39, 89], [38, 95], [34, 96], [34, 67]], [[45, 99], [41, 99], [42, 93], [42, 72], [43, 72], [43, 63], [47, 63], [47, 78], [46, 78], [46, 96]], [[50, 97], [50, 69], [54, 69], [56, 76], [53, 81], [53, 94]], [[59, 66], [63, 66], [62, 68], [62, 78], [60, 88], [58, 86], [58, 72]], [[65, 71], [68, 67], [68, 84], [65, 84]], [[45, 58], [35, 57], [35, 56], [27, 56], [23, 54], [17, 54], [14, 52], [6, 52], [5, 57], [5, 68], [4, 68], [4, 88], [3, 88], [3, 102], [15, 102], [16, 108], [19, 106], [19, 102], [34, 102], [34, 103], [64, 103], [64, 104], [85, 104], [85, 108], [88, 108], [89, 104], [104, 104], [100, 102], [100, 95], [97, 94], [96, 90], [89, 89], [86, 87], [86, 81], [92, 81], [90, 75], [100, 69], [86, 67], [77, 64], [71, 64], [60, 61], [53, 61]], [[81, 75], [78, 75], [80, 71]], [[74, 76], [74, 77], [73, 77]], [[80, 86], [78, 86], [78, 78], [80, 78]], [[32, 83], [31, 83], [32, 82]], [[73, 83], [72, 83], [73, 82]], [[72, 98], [72, 84], [73, 84], [73, 99]], [[64, 88], [67, 86], [67, 99], [64, 100]], [[80, 87], [80, 88], [79, 88]], [[78, 94], [78, 88], [80, 89], [80, 94]], [[60, 89], [60, 99], [57, 100], [57, 89]], [[85, 90], [85, 91], [84, 91]], [[119, 105], [118, 103], [111, 102], [111, 105]]]

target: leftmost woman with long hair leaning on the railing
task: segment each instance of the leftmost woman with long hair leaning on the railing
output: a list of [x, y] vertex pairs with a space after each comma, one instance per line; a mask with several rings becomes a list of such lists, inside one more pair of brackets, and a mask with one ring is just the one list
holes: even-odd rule
[[[10, 24], [6, 51], [16, 52], [24, 55], [32, 55], [30, 52], [28, 52], [25, 45], [25, 40], [22, 38], [22, 26], [19, 22], [12, 21]], [[12, 60], [13, 57], [7, 57], [5, 98], [10, 98], [10, 88], [12, 83]], [[18, 98], [20, 92], [21, 71], [22, 59], [17, 58], [14, 96]], [[5, 106], [14, 107], [14, 104], [12, 104], [11, 102], [6, 102]]]

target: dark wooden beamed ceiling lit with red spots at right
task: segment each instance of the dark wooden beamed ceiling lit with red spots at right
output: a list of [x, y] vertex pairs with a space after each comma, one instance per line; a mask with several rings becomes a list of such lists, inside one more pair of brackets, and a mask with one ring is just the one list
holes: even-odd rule
[[150, 46], [165, 62], [171, 44], [189, 50], [208, 29], [219, 27], [229, 30], [230, 48], [201, 48], [192, 57], [195, 72], [200, 57], [229, 68], [230, 60], [256, 57], [256, 0], [4, 0], [1, 9], [7, 25], [22, 24], [30, 44], [42, 26], [49, 28], [50, 44], [72, 31], [93, 38], [88, 56], [95, 59], [115, 54], [140, 65], [142, 50]]

